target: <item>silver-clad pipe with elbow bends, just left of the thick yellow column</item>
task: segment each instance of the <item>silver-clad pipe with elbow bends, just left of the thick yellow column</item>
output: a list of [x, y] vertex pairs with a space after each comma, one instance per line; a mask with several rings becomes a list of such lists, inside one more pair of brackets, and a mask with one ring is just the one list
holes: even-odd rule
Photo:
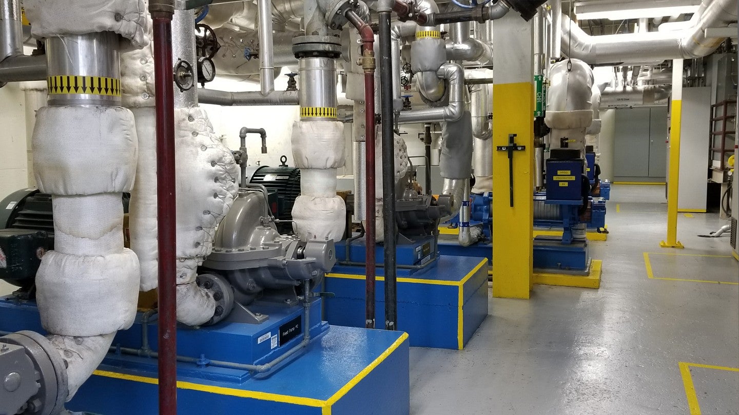
[[[442, 123], [457, 121], [464, 113], [464, 69], [458, 64], [443, 64], [437, 71], [440, 79], [449, 84], [447, 106], [414, 109], [398, 113], [398, 124]], [[384, 117], [383, 117], [384, 119]]]

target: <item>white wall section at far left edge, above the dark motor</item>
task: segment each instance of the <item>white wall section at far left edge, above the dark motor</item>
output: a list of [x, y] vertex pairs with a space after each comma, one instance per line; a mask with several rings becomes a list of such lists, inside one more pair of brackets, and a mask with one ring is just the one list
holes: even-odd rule
[[18, 83], [0, 88], [0, 199], [28, 185], [25, 120], [24, 92]]

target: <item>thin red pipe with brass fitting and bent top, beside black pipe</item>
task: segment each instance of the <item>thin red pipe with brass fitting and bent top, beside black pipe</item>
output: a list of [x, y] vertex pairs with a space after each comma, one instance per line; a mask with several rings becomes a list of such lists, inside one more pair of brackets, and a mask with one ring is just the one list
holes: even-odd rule
[[367, 176], [367, 191], [364, 216], [364, 256], [365, 286], [364, 313], [367, 329], [375, 328], [375, 33], [369, 24], [364, 22], [352, 10], [344, 15], [358, 30], [362, 41], [362, 57], [370, 61], [362, 61], [364, 68], [364, 169]]

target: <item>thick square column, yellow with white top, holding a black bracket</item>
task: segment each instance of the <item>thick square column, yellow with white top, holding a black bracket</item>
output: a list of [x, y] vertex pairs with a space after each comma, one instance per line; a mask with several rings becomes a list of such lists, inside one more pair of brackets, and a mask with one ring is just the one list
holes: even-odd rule
[[[493, 296], [529, 298], [534, 274], [534, 46], [531, 22], [517, 13], [495, 21], [493, 35], [505, 41], [493, 50]], [[508, 135], [525, 145], [514, 151]], [[511, 207], [509, 175], [513, 174]]]

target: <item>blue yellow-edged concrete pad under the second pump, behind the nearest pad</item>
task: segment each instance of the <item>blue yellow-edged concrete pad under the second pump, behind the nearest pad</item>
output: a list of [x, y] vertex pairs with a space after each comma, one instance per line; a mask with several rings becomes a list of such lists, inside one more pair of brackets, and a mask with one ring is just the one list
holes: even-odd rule
[[[384, 270], [377, 268], [376, 312], [384, 316]], [[326, 275], [324, 317], [364, 327], [364, 267], [336, 266]], [[488, 260], [441, 255], [436, 267], [398, 269], [398, 329], [411, 346], [463, 349], [488, 315]], [[379, 321], [379, 320], [378, 320]]]

